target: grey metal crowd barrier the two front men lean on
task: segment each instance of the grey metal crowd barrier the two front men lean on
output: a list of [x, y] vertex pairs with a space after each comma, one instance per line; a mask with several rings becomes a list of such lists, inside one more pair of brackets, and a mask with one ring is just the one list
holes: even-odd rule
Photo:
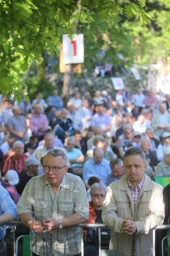
[[[21, 221], [12, 221], [10, 224], [13, 225], [13, 243], [14, 243], [14, 256], [16, 256], [16, 238], [15, 238], [15, 226], [16, 225], [23, 225]], [[76, 225], [75, 227], [81, 227], [81, 249], [82, 249], [82, 256], [84, 256], [84, 250], [83, 250], [83, 227], [94, 227], [99, 229], [99, 256], [101, 255], [112, 255], [112, 256], [118, 256], [119, 255], [119, 233], [117, 233], [117, 251], [111, 251], [111, 250], [102, 250], [101, 249], [101, 228], [106, 227], [102, 223], [81, 223], [79, 225]], [[156, 229], [170, 229], [170, 225], [158, 225], [153, 230], [153, 256], [155, 256], [155, 230]], [[32, 231], [30, 230], [30, 249], [31, 249], [31, 256], [32, 256]], [[66, 229], [64, 228], [64, 255], [66, 255]], [[135, 246], [136, 247], [136, 246]], [[107, 252], [106, 252], [107, 251]], [[135, 252], [135, 255], [136, 252]]]

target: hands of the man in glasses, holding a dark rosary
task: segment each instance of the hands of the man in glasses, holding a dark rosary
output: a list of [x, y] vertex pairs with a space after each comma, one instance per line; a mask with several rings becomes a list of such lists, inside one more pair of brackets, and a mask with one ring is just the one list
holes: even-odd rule
[[31, 229], [36, 233], [42, 233], [44, 231], [50, 231], [53, 228], [57, 228], [57, 220], [53, 218], [44, 219], [42, 222], [33, 220], [31, 223]]

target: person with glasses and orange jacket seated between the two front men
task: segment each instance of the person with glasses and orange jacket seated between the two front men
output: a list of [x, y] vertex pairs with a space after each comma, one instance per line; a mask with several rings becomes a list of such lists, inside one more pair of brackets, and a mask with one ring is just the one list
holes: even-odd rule
[[[103, 183], [94, 183], [93, 185], [91, 185], [90, 195], [92, 200], [89, 202], [89, 209], [90, 209], [89, 219], [85, 223], [103, 223], [102, 207], [103, 207], [103, 202], [106, 198], [106, 193], [107, 193], [107, 187]], [[95, 235], [95, 231], [93, 230], [93, 235], [90, 235], [89, 233], [91, 233], [90, 231], [92, 231], [92, 229], [93, 228], [83, 228], [84, 256], [99, 255], [98, 232]], [[96, 230], [98, 231], [98, 228]], [[101, 234], [102, 234], [102, 228], [101, 228]], [[107, 245], [102, 245], [102, 237], [101, 237], [101, 248], [109, 249], [109, 242]]]

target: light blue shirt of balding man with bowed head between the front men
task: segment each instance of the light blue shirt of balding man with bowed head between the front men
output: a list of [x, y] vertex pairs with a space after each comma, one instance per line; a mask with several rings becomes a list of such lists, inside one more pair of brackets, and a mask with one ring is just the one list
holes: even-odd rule
[[103, 159], [100, 164], [96, 164], [94, 158], [91, 158], [83, 165], [83, 182], [87, 183], [90, 177], [96, 176], [107, 186], [107, 177], [110, 173], [110, 161]]

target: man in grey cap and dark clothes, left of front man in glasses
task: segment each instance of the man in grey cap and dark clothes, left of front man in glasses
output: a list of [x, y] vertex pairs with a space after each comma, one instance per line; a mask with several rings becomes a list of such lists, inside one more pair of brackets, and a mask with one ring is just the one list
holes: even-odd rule
[[16, 185], [18, 193], [21, 195], [27, 182], [38, 175], [38, 168], [40, 161], [35, 157], [28, 157], [25, 159], [25, 169], [20, 174], [20, 182]]

